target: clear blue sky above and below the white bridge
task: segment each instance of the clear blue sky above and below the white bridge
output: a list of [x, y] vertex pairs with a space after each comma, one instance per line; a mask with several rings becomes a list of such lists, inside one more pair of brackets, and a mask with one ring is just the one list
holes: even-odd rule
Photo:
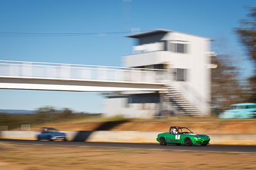
[[[0, 32], [123, 32], [172, 29], [215, 39], [212, 50], [232, 53], [241, 76], [252, 74], [244, 47], [234, 33], [256, 1], [146, 0], [1, 0]], [[122, 66], [134, 41], [125, 34], [96, 36], [0, 36], [0, 60]], [[223, 43], [224, 42], [224, 43]], [[224, 44], [225, 48], [220, 44]], [[42, 106], [102, 112], [98, 92], [0, 90], [0, 109], [33, 110]]]

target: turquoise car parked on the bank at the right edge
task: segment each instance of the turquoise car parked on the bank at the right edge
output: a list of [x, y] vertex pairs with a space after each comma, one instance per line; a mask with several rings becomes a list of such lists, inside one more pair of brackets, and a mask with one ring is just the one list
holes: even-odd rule
[[256, 103], [232, 104], [219, 118], [256, 118]]

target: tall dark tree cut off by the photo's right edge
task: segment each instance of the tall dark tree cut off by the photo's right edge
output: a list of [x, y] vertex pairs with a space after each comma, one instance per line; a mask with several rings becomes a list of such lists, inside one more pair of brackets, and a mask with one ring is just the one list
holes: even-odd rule
[[[256, 7], [250, 8], [248, 18], [241, 20], [241, 25], [242, 27], [237, 28], [236, 32], [256, 66]], [[256, 69], [253, 76], [248, 78], [248, 87], [250, 89], [248, 101], [256, 103]]]

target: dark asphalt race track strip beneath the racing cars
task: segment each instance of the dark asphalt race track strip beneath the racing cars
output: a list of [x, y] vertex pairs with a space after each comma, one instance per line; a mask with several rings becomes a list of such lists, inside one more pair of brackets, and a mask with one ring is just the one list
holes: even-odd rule
[[160, 149], [195, 152], [240, 152], [256, 153], [256, 145], [207, 145], [207, 146], [161, 146], [157, 143], [103, 143], [103, 142], [80, 142], [80, 141], [33, 141], [19, 139], [0, 139], [2, 142], [19, 143], [29, 145], [58, 145], [58, 146], [92, 146], [102, 148], [136, 148], [136, 149]]

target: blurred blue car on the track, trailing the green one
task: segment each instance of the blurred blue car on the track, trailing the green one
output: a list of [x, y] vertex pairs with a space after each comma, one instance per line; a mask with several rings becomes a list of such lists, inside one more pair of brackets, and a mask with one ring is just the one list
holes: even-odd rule
[[66, 134], [58, 132], [57, 129], [52, 127], [43, 127], [42, 131], [37, 135], [38, 141], [40, 140], [63, 140], [66, 141]]

